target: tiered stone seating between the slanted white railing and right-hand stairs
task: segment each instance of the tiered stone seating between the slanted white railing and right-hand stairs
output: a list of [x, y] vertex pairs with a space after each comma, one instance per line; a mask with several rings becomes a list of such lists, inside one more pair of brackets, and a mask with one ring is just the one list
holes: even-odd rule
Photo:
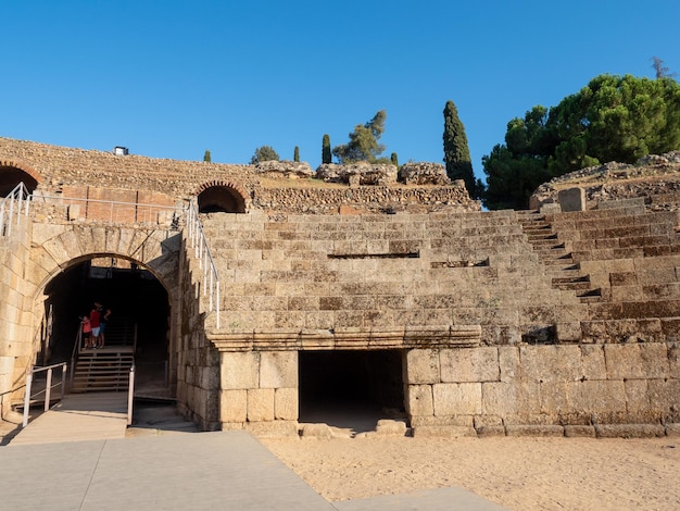
[[547, 338], [565, 311], [583, 312], [551, 287], [512, 211], [213, 214], [203, 224], [227, 331], [481, 324], [482, 341], [507, 344]]

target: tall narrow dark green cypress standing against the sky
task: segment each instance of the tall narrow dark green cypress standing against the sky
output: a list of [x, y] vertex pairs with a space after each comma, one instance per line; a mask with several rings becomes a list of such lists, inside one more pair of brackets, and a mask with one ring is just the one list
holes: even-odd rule
[[480, 180], [475, 179], [465, 126], [458, 117], [455, 103], [451, 100], [446, 101], [444, 107], [443, 140], [446, 175], [451, 179], [463, 179], [470, 197], [479, 198], [483, 185]]

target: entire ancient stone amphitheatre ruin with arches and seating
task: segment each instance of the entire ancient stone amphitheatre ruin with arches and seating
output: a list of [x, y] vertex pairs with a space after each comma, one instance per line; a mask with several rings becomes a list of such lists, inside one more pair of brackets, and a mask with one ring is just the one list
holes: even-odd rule
[[680, 153], [482, 211], [438, 164], [127, 152], [0, 138], [3, 416], [34, 365], [97, 388], [101, 299], [105, 351], [204, 431], [366, 407], [414, 436], [680, 432]]

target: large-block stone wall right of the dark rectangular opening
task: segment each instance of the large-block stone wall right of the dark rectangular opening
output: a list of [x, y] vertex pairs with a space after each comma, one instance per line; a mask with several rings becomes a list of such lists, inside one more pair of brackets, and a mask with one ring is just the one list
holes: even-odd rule
[[407, 353], [415, 436], [663, 436], [680, 422], [677, 342]]

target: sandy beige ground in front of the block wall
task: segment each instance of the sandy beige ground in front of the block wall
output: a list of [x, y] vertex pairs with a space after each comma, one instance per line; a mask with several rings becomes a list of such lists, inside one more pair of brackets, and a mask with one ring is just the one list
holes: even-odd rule
[[679, 510], [680, 438], [262, 439], [326, 499], [457, 486], [511, 510]]

